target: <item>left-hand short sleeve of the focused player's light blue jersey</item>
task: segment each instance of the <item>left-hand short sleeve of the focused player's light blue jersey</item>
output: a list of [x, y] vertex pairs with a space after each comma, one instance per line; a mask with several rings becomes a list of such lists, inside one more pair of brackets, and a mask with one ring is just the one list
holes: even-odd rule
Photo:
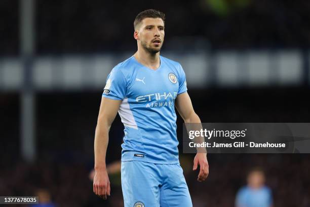
[[107, 76], [102, 97], [123, 100], [126, 95], [126, 80], [120, 68], [114, 67]]

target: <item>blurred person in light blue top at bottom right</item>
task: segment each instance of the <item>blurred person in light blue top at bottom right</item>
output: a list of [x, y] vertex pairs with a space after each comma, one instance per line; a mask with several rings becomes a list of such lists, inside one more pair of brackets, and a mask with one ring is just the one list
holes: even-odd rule
[[272, 207], [272, 191], [265, 186], [264, 171], [256, 167], [247, 177], [248, 185], [242, 187], [236, 197], [236, 207]]

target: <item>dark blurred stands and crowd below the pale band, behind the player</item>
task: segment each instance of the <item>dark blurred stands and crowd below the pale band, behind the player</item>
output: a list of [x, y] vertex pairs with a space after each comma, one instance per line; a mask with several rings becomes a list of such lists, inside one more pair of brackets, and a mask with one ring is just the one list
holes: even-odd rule
[[[189, 90], [203, 122], [309, 122], [307, 90]], [[203, 94], [203, 96], [201, 95]], [[299, 100], [298, 100], [299, 97]], [[18, 96], [0, 98], [6, 118], [1, 131], [0, 195], [35, 195], [49, 192], [57, 206], [123, 206], [120, 174], [110, 175], [111, 197], [104, 201], [92, 190], [93, 142], [101, 92], [44, 93], [36, 99], [37, 161], [20, 157]], [[298, 100], [298, 101], [287, 101]], [[182, 152], [182, 120], [178, 118]], [[123, 126], [119, 116], [110, 129], [107, 163], [119, 161]], [[310, 179], [308, 154], [209, 154], [210, 175], [197, 182], [191, 154], [180, 156], [195, 207], [230, 207], [238, 190], [246, 185], [248, 170], [265, 172], [275, 206], [308, 207]]]

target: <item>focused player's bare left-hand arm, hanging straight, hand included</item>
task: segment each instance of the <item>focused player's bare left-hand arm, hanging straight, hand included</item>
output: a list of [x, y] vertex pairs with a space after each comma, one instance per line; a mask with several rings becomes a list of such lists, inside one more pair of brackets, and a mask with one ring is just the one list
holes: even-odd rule
[[94, 143], [95, 176], [93, 191], [103, 199], [106, 199], [106, 195], [110, 195], [110, 182], [105, 164], [106, 149], [109, 140], [108, 134], [121, 102], [121, 100], [113, 100], [105, 97], [101, 98]]

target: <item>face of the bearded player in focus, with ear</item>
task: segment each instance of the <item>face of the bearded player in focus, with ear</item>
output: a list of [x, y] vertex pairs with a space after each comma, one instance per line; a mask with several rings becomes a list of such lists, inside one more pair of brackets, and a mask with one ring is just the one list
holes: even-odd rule
[[165, 26], [161, 18], [145, 18], [135, 31], [135, 39], [149, 53], [158, 53], [164, 43]]

